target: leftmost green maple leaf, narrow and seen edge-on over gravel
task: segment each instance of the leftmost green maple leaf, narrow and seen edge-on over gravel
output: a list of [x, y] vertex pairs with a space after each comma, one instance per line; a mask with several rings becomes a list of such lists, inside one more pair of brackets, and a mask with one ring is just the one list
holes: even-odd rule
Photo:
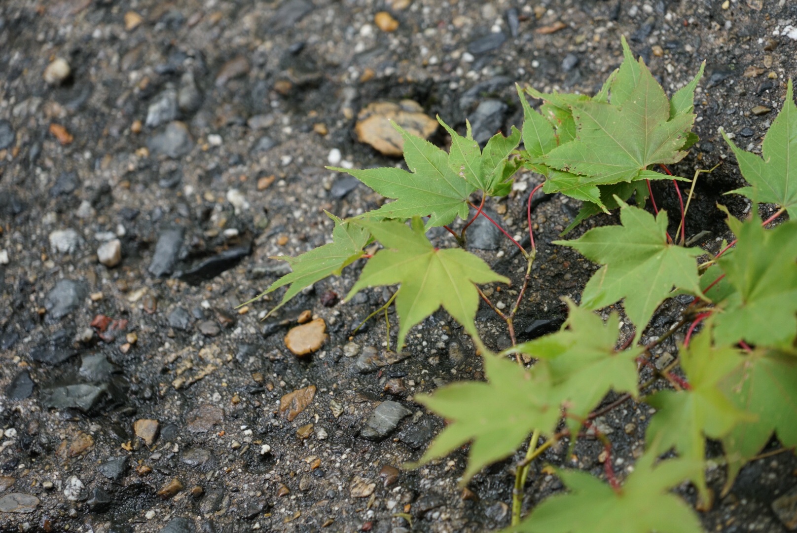
[[[277, 307], [269, 311], [272, 314], [281, 306], [289, 302], [291, 298], [299, 294], [305, 287], [320, 281], [332, 274], [340, 275], [340, 271], [354, 263], [363, 255], [363, 247], [368, 243], [371, 234], [364, 227], [352, 221], [344, 221], [335, 215], [330, 215], [335, 221], [335, 229], [332, 231], [332, 243], [324, 244], [314, 250], [305, 252], [297, 257], [279, 255], [272, 259], [281, 259], [289, 263], [290, 274], [285, 274], [273, 282], [268, 289], [257, 297], [249, 300], [253, 302], [264, 294], [269, 294], [281, 286], [290, 284], [288, 290], [282, 296], [282, 300]], [[249, 303], [246, 302], [246, 303]]]

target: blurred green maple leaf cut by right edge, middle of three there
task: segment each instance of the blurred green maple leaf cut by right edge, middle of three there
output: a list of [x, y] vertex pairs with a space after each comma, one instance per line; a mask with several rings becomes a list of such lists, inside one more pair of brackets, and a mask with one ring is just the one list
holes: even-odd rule
[[717, 260], [725, 274], [721, 292], [709, 292], [715, 302], [724, 297], [713, 316], [715, 338], [790, 345], [797, 334], [797, 221], [766, 230], [756, 215], [732, 224], [739, 242]]

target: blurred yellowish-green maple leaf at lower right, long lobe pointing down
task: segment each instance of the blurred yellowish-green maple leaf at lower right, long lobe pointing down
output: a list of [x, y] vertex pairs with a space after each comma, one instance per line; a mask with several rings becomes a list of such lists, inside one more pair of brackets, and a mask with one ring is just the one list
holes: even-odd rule
[[[705, 332], [692, 338], [689, 348], [681, 349], [681, 368], [689, 389], [663, 390], [646, 398], [658, 412], [650, 419], [646, 432], [652, 452], [662, 454], [675, 448], [679, 456], [696, 461], [705, 459], [705, 438], [727, 436], [740, 420], [752, 417], [733, 405], [719, 382], [742, 362], [736, 349], [713, 348]], [[692, 478], [704, 503], [711, 501], [701, 470]]]

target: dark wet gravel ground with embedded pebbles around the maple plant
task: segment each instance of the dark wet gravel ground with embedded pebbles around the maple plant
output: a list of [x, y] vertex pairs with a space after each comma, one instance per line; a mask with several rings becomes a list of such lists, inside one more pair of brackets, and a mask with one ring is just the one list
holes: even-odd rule
[[[380, 11], [391, 16], [375, 20]], [[385, 350], [384, 322], [352, 336], [391, 296], [337, 303], [363, 262], [265, 322], [276, 299], [236, 306], [285, 273], [269, 257], [330, 239], [324, 210], [355, 215], [383, 201], [324, 169], [397, 164], [358, 142], [361, 108], [411, 99], [457, 127], [470, 117], [482, 134], [506, 131], [521, 122], [516, 81], [592, 93], [621, 60], [621, 34], [668, 92], [707, 61], [701, 142], [674, 170], [721, 163], [701, 177], [687, 220], [688, 237], [705, 231], [697, 242], [717, 247], [727, 233], [715, 203], [749, 209], [721, 196], [740, 176], [718, 128], [760, 144], [775, 114], [765, 109], [780, 108], [797, 65], [792, 24], [791, 0], [2, 2], [0, 530], [507, 525], [520, 455], [485, 469], [469, 492], [457, 486], [463, 450], [397, 469], [442, 428], [413, 395], [481, 377], [450, 318], [423, 322], [401, 357]], [[446, 144], [440, 132], [432, 140]], [[521, 174], [488, 206], [513, 234], [536, 183]], [[669, 188], [654, 192], [676, 208]], [[551, 244], [578, 207], [560, 195], [536, 204], [540, 251], [520, 338], [556, 326], [559, 298], [577, 298], [594, 270]], [[596, 217], [573, 235], [612, 221]], [[481, 223], [470, 235], [478, 254], [520, 278], [506, 239]], [[663, 306], [648, 333], [665, 331], [680, 305]], [[328, 338], [300, 330], [293, 342], [323, 345], [296, 357], [285, 334], [310, 318]], [[507, 345], [491, 311], [478, 326], [489, 345]], [[601, 420], [621, 474], [642, 451], [648, 416], [628, 404]], [[566, 450], [544, 460], [562, 464]], [[575, 452], [580, 468], [603, 472], [597, 443]], [[711, 453], [717, 490], [724, 468], [720, 449]], [[562, 487], [539, 468], [527, 508]], [[791, 454], [750, 464], [701, 515], [706, 530], [787, 531], [771, 503], [795, 486], [795, 468]]]

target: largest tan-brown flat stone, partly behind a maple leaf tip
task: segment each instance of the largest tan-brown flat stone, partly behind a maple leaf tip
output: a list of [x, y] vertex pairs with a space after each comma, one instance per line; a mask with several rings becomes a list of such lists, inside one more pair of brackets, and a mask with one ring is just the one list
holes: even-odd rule
[[404, 139], [391, 121], [423, 139], [428, 139], [438, 128], [438, 121], [426, 115], [418, 102], [372, 102], [357, 115], [357, 140], [371, 144], [386, 156], [401, 156], [404, 153]]

